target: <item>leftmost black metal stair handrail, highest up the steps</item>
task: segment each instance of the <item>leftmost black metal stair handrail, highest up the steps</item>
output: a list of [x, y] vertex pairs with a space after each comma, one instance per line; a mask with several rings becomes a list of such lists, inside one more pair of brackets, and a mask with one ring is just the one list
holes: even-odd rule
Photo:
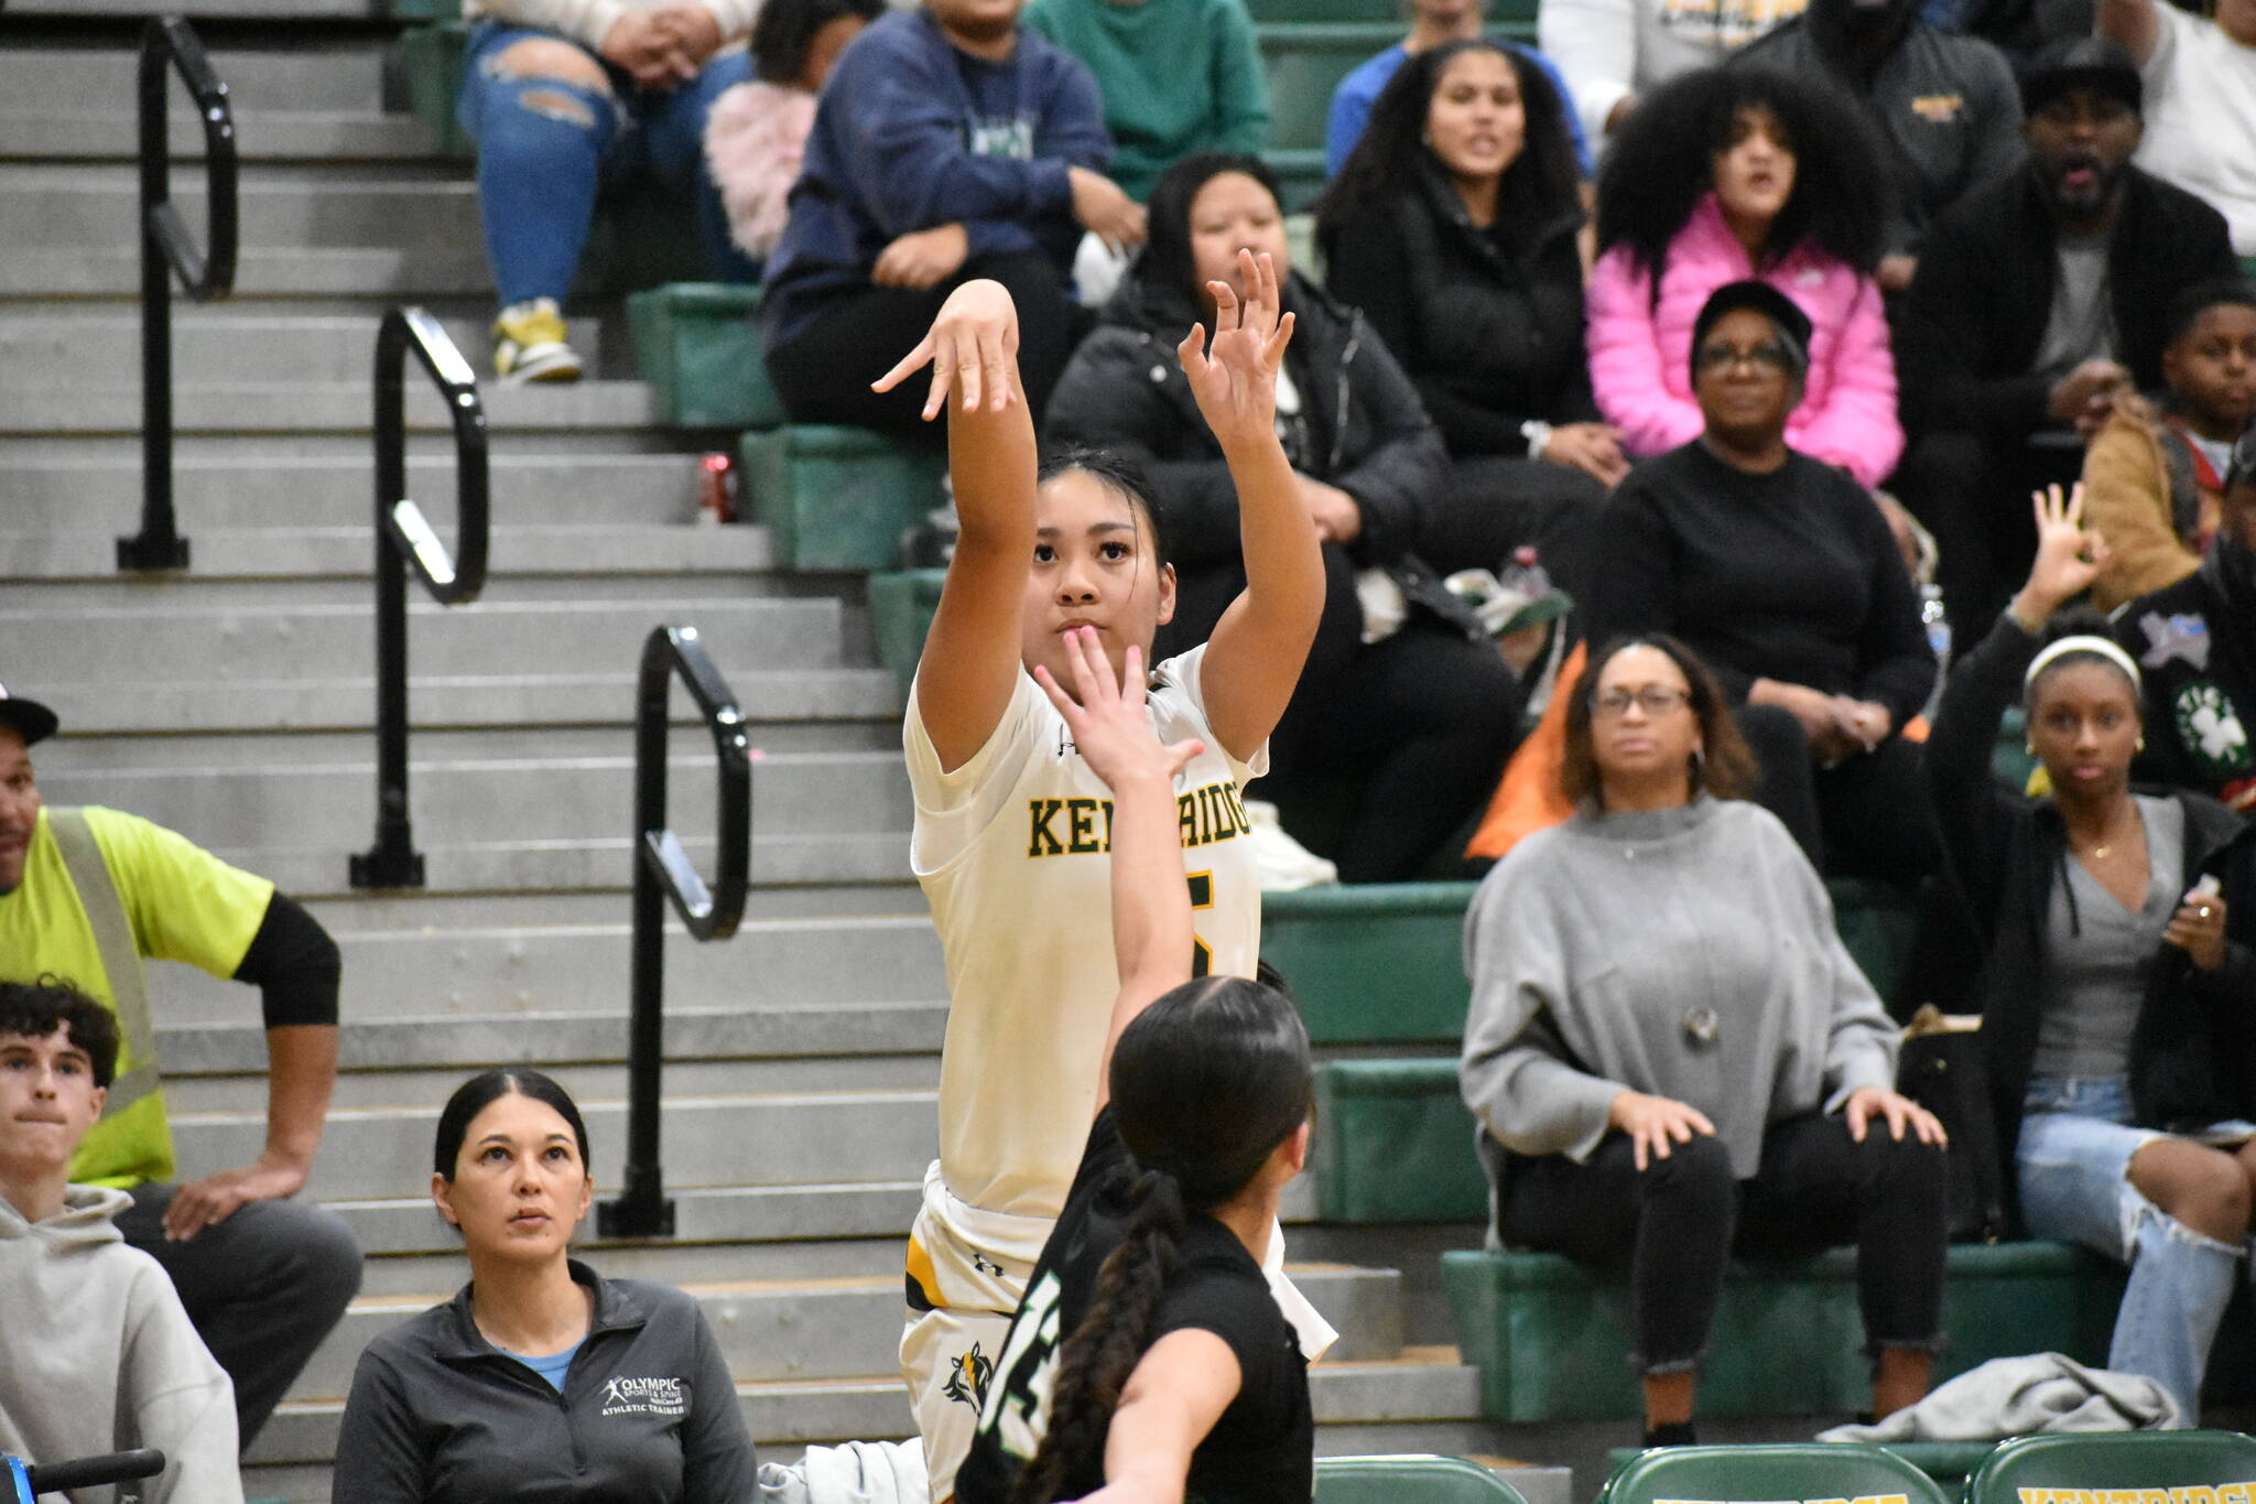
[[[167, 63], [187, 83], [203, 122], [203, 196], [210, 253], [199, 250], [171, 205]], [[171, 280], [196, 302], [235, 291], [235, 115], [228, 86], [178, 16], [153, 16], [140, 52], [142, 239], [142, 530], [117, 539], [117, 568], [187, 568], [187, 539], [171, 512]]]

